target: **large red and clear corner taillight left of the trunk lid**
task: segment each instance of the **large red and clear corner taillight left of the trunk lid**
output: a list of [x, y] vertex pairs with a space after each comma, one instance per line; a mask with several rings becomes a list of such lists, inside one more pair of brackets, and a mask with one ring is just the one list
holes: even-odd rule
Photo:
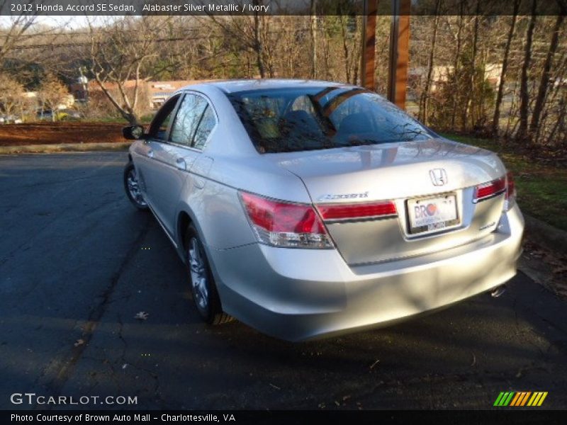
[[325, 225], [312, 205], [272, 200], [240, 192], [259, 242], [286, 248], [332, 248]]

